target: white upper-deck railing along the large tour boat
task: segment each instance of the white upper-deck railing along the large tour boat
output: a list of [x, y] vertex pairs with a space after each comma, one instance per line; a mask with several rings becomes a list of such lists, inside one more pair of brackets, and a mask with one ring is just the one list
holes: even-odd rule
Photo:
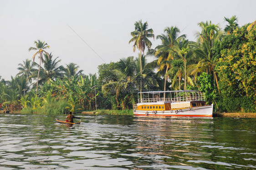
[[184, 92], [182, 95], [176, 95], [174, 97], [154, 97], [154, 98], [138, 98], [139, 103], [150, 102], [191, 102], [191, 101], [205, 100], [205, 93], [201, 92]]

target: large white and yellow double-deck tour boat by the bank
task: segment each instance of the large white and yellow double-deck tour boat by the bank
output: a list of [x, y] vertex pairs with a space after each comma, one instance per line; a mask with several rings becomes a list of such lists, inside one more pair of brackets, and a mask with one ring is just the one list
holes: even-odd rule
[[213, 104], [206, 105], [205, 93], [184, 91], [139, 92], [136, 116], [212, 117]]

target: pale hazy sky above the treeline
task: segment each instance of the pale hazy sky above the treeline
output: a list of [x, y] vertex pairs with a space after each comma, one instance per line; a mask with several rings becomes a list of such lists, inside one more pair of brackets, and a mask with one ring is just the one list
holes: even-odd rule
[[[224, 17], [236, 15], [241, 26], [255, 21], [255, 7], [256, 0], [0, 0], [0, 76], [15, 76], [18, 64], [35, 53], [28, 49], [37, 39], [50, 45], [47, 52], [62, 65], [72, 62], [85, 74], [97, 73], [104, 62], [92, 49], [106, 63], [138, 56], [128, 41], [139, 19], [148, 21], [155, 35], [177, 26], [195, 40], [199, 22], [211, 20], [224, 29]], [[152, 48], [159, 44], [151, 40]]]

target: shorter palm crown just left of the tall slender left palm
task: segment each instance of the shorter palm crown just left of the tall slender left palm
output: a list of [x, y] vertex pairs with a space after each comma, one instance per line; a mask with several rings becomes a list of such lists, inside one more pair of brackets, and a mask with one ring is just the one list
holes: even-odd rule
[[19, 63], [20, 67], [18, 67], [18, 70], [20, 70], [20, 72], [17, 74], [17, 76], [25, 76], [26, 79], [31, 83], [32, 70], [35, 65], [36, 64], [29, 59], [26, 59], [26, 61], [23, 61], [23, 64]]

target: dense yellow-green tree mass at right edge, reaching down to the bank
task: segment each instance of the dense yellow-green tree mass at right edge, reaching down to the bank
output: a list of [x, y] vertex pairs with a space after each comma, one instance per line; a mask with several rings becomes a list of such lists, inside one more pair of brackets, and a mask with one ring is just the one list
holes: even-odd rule
[[224, 111], [256, 112], [256, 28], [248, 25], [226, 35], [221, 43], [219, 73]]

